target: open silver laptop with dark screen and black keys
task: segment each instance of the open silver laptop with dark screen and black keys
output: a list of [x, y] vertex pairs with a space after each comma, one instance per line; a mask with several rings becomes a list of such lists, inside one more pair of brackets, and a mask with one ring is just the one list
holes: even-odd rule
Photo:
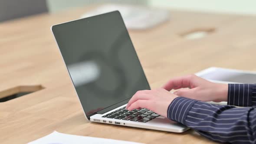
[[150, 86], [118, 11], [54, 25], [52, 31], [89, 121], [177, 133], [188, 129], [146, 108], [125, 109], [135, 92]]

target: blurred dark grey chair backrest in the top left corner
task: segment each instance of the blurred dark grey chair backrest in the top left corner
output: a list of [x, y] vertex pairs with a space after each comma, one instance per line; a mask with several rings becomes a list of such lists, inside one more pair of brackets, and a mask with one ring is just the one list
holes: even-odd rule
[[46, 0], [0, 0], [0, 21], [48, 12]]

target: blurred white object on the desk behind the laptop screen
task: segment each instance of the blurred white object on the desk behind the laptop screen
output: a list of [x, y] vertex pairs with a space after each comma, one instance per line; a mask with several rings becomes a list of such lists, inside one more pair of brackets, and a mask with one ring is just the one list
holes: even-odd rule
[[128, 29], [148, 29], [170, 20], [168, 10], [136, 7], [130, 5], [107, 4], [82, 15], [82, 18], [118, 10]]

